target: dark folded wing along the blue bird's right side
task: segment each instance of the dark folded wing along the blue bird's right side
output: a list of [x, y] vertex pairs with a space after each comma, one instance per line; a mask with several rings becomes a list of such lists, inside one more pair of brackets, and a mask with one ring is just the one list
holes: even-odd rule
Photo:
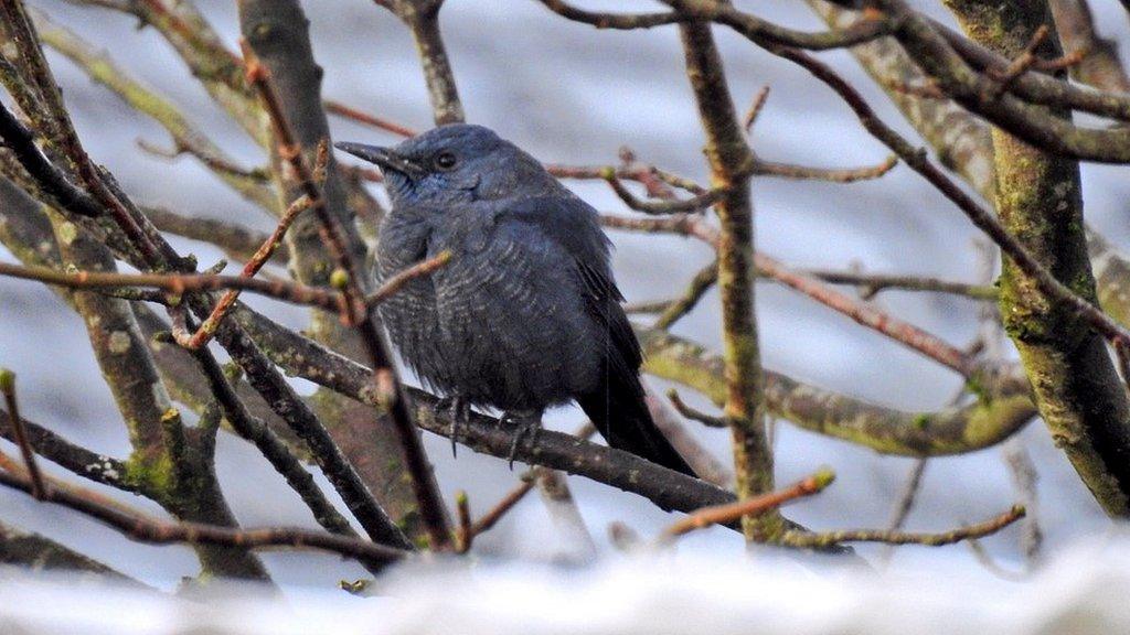
[[619, 303], [624, 301], [609, 264], [610, 243], [600, 229], [599, 215], [574, 197], [525, 199], [506, 208], [498, 223], [523, 223], [536, 227], [559, 245], [576, 268], [589, 312], [608, 330], [614, 363], [637, 372], [643, 358], [632, 324]]

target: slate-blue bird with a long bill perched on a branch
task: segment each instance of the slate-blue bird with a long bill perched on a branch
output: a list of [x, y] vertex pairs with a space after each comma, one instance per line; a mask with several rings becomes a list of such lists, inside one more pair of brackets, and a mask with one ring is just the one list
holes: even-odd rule
[[592, 207], [480, 125], [337, 147], [385, 177], [379, 278], [452, 253], [380, 313], [403, 360], [453, 400], [453, 421], [475, 405], [536, 430], [547, 407], [576, 400], [612, 447], [694, 476], [647, 412], [640, 343]]

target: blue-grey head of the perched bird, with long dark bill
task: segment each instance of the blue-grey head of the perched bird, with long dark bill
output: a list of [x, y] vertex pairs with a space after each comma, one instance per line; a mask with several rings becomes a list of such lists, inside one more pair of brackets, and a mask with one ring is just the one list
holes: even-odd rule
[[530, 155], [481, 125], [442, 125], [391, 148], [334, 146], [381, 168], [393, 206], [504, 199], [558, 186]]

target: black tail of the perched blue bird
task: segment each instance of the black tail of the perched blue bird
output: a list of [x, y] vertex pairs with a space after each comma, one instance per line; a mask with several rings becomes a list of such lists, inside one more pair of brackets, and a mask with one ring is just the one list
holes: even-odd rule
[[607, 373], [607, 381], [601, 382], [600, 390], [576, 401], [608, 445], [697, 477], [655, 426], [644, 401], [640, 377], [634, 372]]

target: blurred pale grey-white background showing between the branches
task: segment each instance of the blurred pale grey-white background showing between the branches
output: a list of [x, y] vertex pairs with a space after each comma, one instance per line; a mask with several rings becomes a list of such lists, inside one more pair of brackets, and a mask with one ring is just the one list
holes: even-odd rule
[[[69, 25], [147, 85], [173, 98], [190, 119], [244, 165], [262, 163], [254, 145], [215, 107], [180, 60], [151, 29], [113, 12], [59, 0], [33, 1]], [[199, 0], [198, 5], [234, 47], [235, 3]], [[325, 69], [323, 93], [365, 111], [423, 129], [429, 108], [411, 41], [390, 14], [366, 0], [307, 0], [318, 61]], [[740, 3], [739, 3], [740, 5]], [[809, 29], [823, 28], [799, 0], [746, 2], [757, 15]], [[939, 8], [920, 3], [944, 17]], [[652, 8], [650, 3], [605, 2], [586, 6]], [[1099, 31], [1130, 42], [1124, 10], [1114, 0], [1096, 0]], [[615, 163], [627, 145], [646, 162], [705, 181], [697, 115], [683, 75], [673, 28], [649, 32], [598, 32], [565, 21], [533, 1], [449, 0], [442, 26], [468, 118], [554, 163]], [[716, 28], [725, 55], [731, 90], [739, 110], [763, 85], [772, 86], [754, 134], [756, 150], [767, 159], [826, 167], [878, 163], [887, 151], [858, 125], [837, 98], [805, 72], [762, 53], [724, 28]], [[822, 54], [864, 89], [886, 121], [912, 133], [886, 97], [846, 53]], [[226, 190], [191, 158], [168, 162], [136, 146], [145, 139], [167, 146], [166, 133], [124, 107], [107, 89], [59, 55], [49, 59], [76, 124], [96, 160], [106, 164], [137, 200], [182, 214], [235, 220], [261, 229], [272, 221]], [[337, 139], [391, 142], [372, 130], [333, 120]], [[1116, 245], [1130, 246], [1124, 201], [1128, 182], [1116, 167], [1085, 166], [1087, 216]], [[623, 212], [621, 203], [601, 182], [571, 186], [601, 210]], [[755, 182], [758, 249], [798, 268], [842, 268], [859, 262], [869, 272], [939, 276], [975, 281], [975, 230], [964, 216], [915, 174], [897, 167], [878, 181], [851, 185], [763, 179]], [[617, 233], [616, 272], [629, 301], [655, 299], [678, 293], [709, 262], [702, 245], [671, 237]], [[199, 243], [175, 241], [210, 264], [220, 254]], [[0, 249], [0, 258], [11, 260]], [[959, 379], [916, 354], [864, 330], [850, 320], [789, 289], [758, 286], [757, 314], [764, 363], [798, 379], [904, 409], [944, 406]], [[254, 302], [254, 301], [253, 301]], [[976, 331], [974, 303], [923, 294], [884, 293], [878, 301], [892, 314], [964, 346]], [[276, 319], [301, 327], [304, 310], [254, 302]], [[718, 349], [716, 294], [681, 321], [676, 331]], [[1011, 353], [1010, 353], [1011, 354]], [[82, 444], [124, 455], [128, 445], [119, 415], [86, 341], [85, 329], [51, 292], [31, 282], [0, 279], [0, 364], [19, 375], [24, 414]], [[654, 382], [663, 386], [661, 382]], [[684, 394], [690, 397], [688, 391]], [[703, 400], [693, 403], [705, 406]], [[574, 410], [551, 415], [550, 425], [572, 429]], [[728, 436], [693, 428], [719, 458], [729, 460]], [[820, 496], [788, 510], [788, 515], [815, 529], [884, 527], [912, 461], [884, 458], [834, 440], [777, 427], [779, 482], [796, 480], [820, 464], [838, 475]], [[1092, 501], [1066, 458], [1052, 446], [1042, 423], [1022, 435], [1038, 469], [1038, 517], [1049, 553], [1102, 534], [1111, 523]], [[483, 512], [516, 481], [505, 462], [462, 449], [453, 460], [446, 440], [427, 436], [443, 493], [452, 499], [467, 489], [471, 507]], [[221, 435], [220, 477], [232, 507], [247, 525], [312, 525], [308, 513], [254, 449]], [[610, 557], [606, 527], [624, 521], [644, 536], [671, 519], [646, 501], [581, 478], [570, 485], [581, 512]], [[907, 527], [945, 530], [985, 519], [1015, 501], [999, 449], [931, 461], [923, 493]], [[158, 513], [155, 506], [149, 508]], [[190, 551], [180, 547], [146, 547], [75, 514], [10, 492], [0, 492], [0, 517], [42, 532], [147, 582], [163, 588], [197, 572]], [[1019, 567], [1019, 531], [1015, 528], [985, 541], [1003, 566]], [[520, 555], [550, 560], [568, 548], [537, 496], [524, 501], [498, 528], [478, 542], [484, 554]], [[739, 537], [724, 530], [699, 532], [680, 543], [680, 553], [729, 557], [742, 550]], [[864, 547], [864, 555], [875, 549]], [[280, 583], [329, 588], [362, 569], [333, 557], [264, 554]], [[990, 576], [964, 546], [944, 549], [901, 548], [894, 566], [930, 571], [945, 566], [970, 579]]]

